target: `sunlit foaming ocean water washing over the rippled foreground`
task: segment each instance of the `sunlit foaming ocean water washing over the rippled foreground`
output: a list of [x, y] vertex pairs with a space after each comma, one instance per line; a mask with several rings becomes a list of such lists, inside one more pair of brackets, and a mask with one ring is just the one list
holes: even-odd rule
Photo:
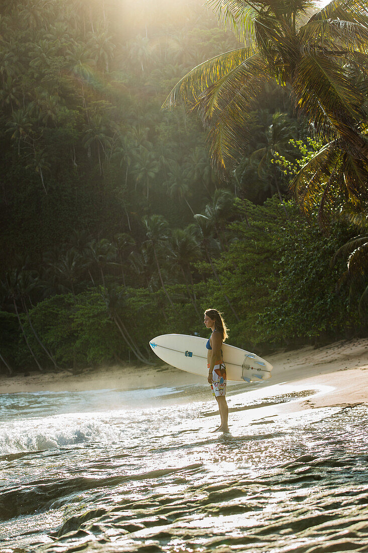
[[229, 434], [207, 385], [1, 395], [1, 553], [368, 551], [368, 409], [316, 393], [229, 387]]

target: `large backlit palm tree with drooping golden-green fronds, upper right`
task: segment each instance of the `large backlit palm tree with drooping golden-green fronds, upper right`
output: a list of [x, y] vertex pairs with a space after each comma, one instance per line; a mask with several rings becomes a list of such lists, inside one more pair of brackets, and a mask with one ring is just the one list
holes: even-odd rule
[[[366, 78], [368, 66], [366, 2], [333, 0], [306, 23], [302, 18], [316, 7], [311, 0], [207, 4], [250, 45], [192, 69], [163, 107], [183, 100], [201, 114], [209, 128], [212, 163], [228, 178], [251, 139], [248, 122], [257, 96], [270, 82], [286, 86], [298, 116], [328, 141], [314, 160], [314, 167], [328, 165], [329, 175], [319, 179], [319, 189], [330, 186], [331, 175], [332, 180], [339, 177], [354, 201], [368, 173], [366, 91], [360, 79]], [[335, 163], [337, 149], [343, 157], [340, 165]]]

